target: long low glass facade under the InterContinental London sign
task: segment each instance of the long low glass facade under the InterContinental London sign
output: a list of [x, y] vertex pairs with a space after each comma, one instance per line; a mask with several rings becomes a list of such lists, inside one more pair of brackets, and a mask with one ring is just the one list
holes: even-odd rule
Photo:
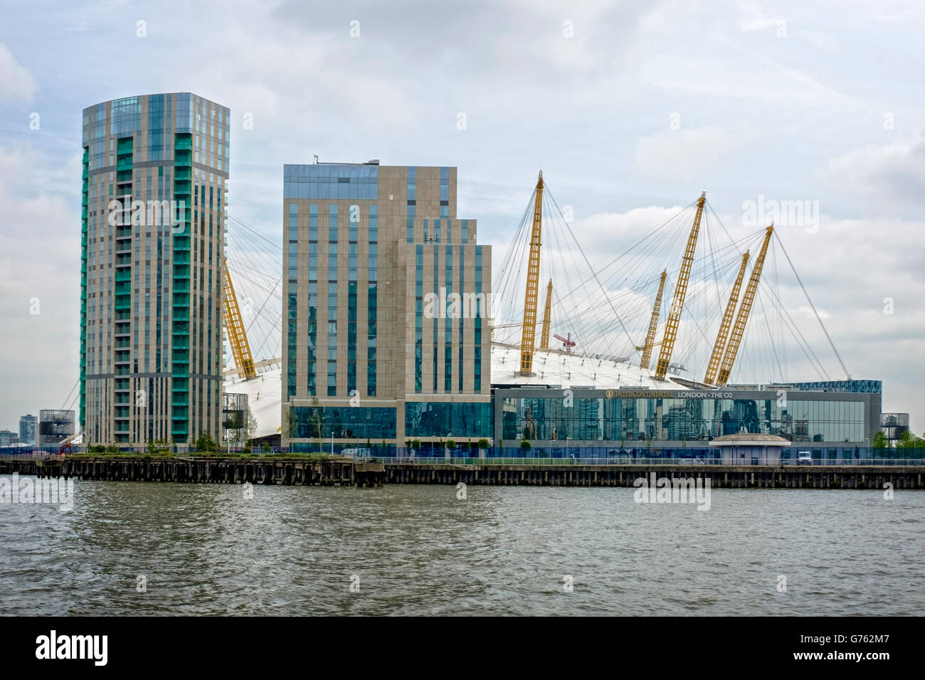
[[[496, 439], [546, 448], [706, 447], [740, 432], [817, 448], [870, 446], [881, 395], [806, 390], [653, 392], [638, 389], [496, 389]], [[606, 443], [605, 443], [606, 442]]]

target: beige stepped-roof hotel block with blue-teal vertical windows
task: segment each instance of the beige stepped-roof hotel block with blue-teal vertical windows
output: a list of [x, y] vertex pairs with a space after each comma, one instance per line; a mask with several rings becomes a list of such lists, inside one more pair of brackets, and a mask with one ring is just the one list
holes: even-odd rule
[[491, 251], [455, 167], [283, 169], [283, 443], [492, 436]]

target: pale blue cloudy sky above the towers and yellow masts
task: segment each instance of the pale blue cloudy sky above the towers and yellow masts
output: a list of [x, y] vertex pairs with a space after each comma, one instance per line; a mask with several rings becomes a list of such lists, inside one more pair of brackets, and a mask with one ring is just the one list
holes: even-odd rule
[[[849, 374], [925, 430], [920, 2], [4, 1], [0, 17], [0, 428], [68, 404], [79, 375], [81, 110], [183, 91], [230, 107], [228, 212], [274, 241], [282, 165], [313, 155], [458, 167], [458, 215], [496, 266], [539, 168], [592, 261], [701, 191], [733, 238], [762, 226], [748, 206], [808, 202], [781, 243]], [[808, 304], [792, 312], [844, 378]], [[790, 378], [817, 379], [804, 368]]]

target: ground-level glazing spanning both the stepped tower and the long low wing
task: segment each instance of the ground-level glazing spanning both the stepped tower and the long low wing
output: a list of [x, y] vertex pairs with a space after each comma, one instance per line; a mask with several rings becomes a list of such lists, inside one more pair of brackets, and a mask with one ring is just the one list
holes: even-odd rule
[[[867, 457], [859, 451], [870, 448], [880, 428], [881, 394], [776, 387], [689, 392], [496, 387], [491, 402], [296, 402], [291, 409], [284, 404], [283, 412], [285, 439], [297, 450], [323, 442], [325, 451], [368, 445], [395, 455], [418, 440], [417, 451], [425, 456], [511, 457], [524, 451], [551, 457], [709, 458], [711, 440], [748, 432], [783, 437], [792, 442], [791, 451], [808, 450], [821, 460]], [[487, 439], [487, 449], [477, 448], [479, 439]], [[529, 449], [521, 449], [524, 440]], [[448, 441], [454, 443], [451, 451]]]

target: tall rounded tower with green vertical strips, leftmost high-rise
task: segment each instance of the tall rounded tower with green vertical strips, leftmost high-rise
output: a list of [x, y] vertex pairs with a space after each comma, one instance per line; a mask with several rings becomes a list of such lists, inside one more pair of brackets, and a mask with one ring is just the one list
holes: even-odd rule
[[228, 108], [191, 93], [83, 110], [85, 441], [221, 436]]

